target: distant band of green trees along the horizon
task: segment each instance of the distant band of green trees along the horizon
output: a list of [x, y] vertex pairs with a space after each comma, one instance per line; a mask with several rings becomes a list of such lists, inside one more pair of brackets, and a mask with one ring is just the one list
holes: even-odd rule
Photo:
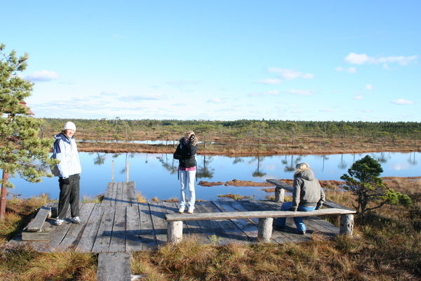
[[[60, 130], [67, 119], [44, 118], [41, 133]], [[295, 145], [300, 138], [319, 138], [322, 143], [333, 139], [344, 143], [356, 138], [370, 141], [399, 141], [410, 139], [414, 143], [421, 136], [420, 122], [335, 122], [335, 121], [291, 121], [291, 120], [248, 120], [211, 121], [177, 119], [72, 119], [78, 131], [90, 139], [111, 138], [120, 141], [133, 141], [138, 136], [161, 140], [178, 138], [187, 130], [205, 138], [220, 140], [250, 139], [253, 143], [272, 141], [288, 142]], [[49, 137], [49, 136], [48, 136]], [[361, 141], [361, 140], [360, 140]]]

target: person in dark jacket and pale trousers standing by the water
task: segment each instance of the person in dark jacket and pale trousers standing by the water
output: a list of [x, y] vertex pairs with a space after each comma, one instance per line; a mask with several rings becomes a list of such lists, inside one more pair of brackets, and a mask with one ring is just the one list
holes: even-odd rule
[[[196, 202], [196, 192], [194, 190], [194, 178], [196, 177], [196, 152], [197, 138], [194, 131], [188, 131], [174, 152], [174, 159], [180, 162], [178, 166], [178, 175], [180, 176], [181, 196], [179, 213], [184, 213], [188, 207], [187, 213], [192, 214], [194, 203]], [[190, 192], [189, 202], [186, 203], [186, 188]]]

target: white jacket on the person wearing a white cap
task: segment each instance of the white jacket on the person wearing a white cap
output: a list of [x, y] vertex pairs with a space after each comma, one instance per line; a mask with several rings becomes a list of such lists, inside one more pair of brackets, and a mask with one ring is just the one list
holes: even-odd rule
[[75, 174], [81, 174], [81, 161], [74, 138], [69, 139], [62, 133], [56, 135], [51, 158], [60, 160], [56, 166], [58, 174], [55, 176], [68, 178]]

